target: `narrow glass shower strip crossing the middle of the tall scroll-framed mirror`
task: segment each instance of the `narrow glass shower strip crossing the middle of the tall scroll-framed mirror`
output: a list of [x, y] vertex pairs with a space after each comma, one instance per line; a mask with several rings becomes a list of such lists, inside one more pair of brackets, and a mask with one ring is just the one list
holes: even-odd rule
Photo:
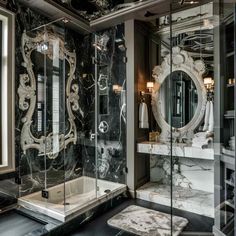
[[[42, 121], [45, 137], [45, 186], [43, 191], [46, 195], [48, 194], [47, 202], [65, 205], [65, 148], [68, 132], [66, 125], [68, 124], [65, 120], [67, 61], [64, 55], [64, 27], [57, 26], [55, 23], [44, 26], [44, 43], [41, 48], [44, 56], [44, 72], [43, 76], [40, 74], [37, 76], [37, 83], [39, 87], [43, 86], [44, 100], [41, 102], [38, 100], [37, 106], [38, 109], [43, 108]], [[41, 90], [39, 87], [38, 98]], [[57, 186], [55, 187], [57, 194], [52, 189], [54, 186]], [[45, 197], [43, 192], [42, 197]]]

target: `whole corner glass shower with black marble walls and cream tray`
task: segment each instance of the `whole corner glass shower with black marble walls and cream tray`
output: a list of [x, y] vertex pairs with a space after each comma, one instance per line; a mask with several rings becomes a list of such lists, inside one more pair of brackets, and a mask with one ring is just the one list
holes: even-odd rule
[[67, 221], [126, 190], [123, 30], [58, 20], [23, 34], [21, 206]]

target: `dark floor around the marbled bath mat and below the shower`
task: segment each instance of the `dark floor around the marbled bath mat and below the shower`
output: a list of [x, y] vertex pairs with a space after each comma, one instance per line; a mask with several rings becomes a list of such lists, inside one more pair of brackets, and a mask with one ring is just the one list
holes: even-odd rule
[[[163, 213], [170, 213], [170, 208], [166, 206], [162, 206], [159, 204], [155, 204], [152, 202], [143, 201], [140, 199], [129, 199], [129, 198], [121, 198], [119, 201], [119, 204], [114, 204], [113, 202], [109, 203], [110, 207], [103, 206], [102, 213], [95, 214], [94, 218], [90, 219], [88, 222], [84, 224], [80, 224], [80, 221], [76, 223], [69, 223], [68, 226], [65, 227], [65, 229], [59, 229], [54, 234], [53, 233], [47, 233], [48, 228], [45, 228], [47, 223], [44, 223], [43, 221], [47, 219], [45, 216], [43, 218], [40, 218], [40, 215], [37, 213], [33, 214], [30, 217], [27, 217], [28, 214], [25, 212], [24, 214], [19, 214], [18, 211], [10, 211], [6, 213], [2, 213], [0, 215], [0, 235], [2, 236], [37, 236], [37, 235], [50, 235], [50, 236], [129, 236], [130, 233], [124, 232], [122, 230], [115, 229], [113, 227], [110, 227], [107, 224], [107, 221], [123, 209], [125, 209], [127, 206], [130, 205], [137, 205], [137, 206], [143, 206], [149, 209], [157, 210]], [[177, 216], [181, 216], [186, 218], [189, 223], [184, 228], [184, 232], [182, 232], [181, 236], [192, 236], [198, 235], [195, 232], [202, 232], [204, 233], [204, 236], [212, 236], [212, 227], [214, 224], [214, 221], [212, 218], [208, 218], [205, 216], [200, 216], [197, 214], [192, 214], [190, 212], [173, 209], [173, 214]], [[31, 215], [31, 214], [29, 214]], [[41, 216], [42, 217], [42, 216]], [[38, 219], [38, 220], [35, 220]], [[48, 219], [47, 222], [51, 222], [52, 219]], [[52, 224], [53, 222], [51, 222]], [[56, 222], [54, 222], [56, 224]], [[73, 227], [71, 227], [73, 224]], [[13, 226], [14, 227], [10, 227]], [[49, 225], [48, 225], [49, 226]], [[1, 233], [6, 234], [1, 234]], [[17, 233], [16, 233], [17, 232]], [[43, 233], [43, 234], [42, 234]], [[133, 234], [132, 234], [133, 235]]]

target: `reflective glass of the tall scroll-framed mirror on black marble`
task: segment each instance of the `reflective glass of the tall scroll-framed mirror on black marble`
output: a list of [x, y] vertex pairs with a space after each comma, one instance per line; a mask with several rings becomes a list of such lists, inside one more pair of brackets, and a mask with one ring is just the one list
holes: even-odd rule
[[[65, 132], [65, 114], [62, 112], [65, 109], [64, 70], [68, 72], [69, 65], [59, 57], [59, 39], [55, 42], [49, 45], [51, 51], [37, 49], [31, 53], [33, 61], [37, 61], [33, 67], [37, 82], [37, 109], [34, 111], [35, 118], [32, 123], [32, 128], [37, 137], [45, 134], [56, 137]], [[44, 116], [46, 119], [44, 119]], [[45, 123], [45, 120], [47, 120], [47, 123]]]

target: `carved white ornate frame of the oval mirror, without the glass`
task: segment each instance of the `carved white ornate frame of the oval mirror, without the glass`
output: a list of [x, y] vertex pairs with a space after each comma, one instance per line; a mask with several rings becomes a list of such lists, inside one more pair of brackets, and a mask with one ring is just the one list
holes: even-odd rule
[[[172, 63], [172, 67], [171, 67]], [[193, 80], [198, 94], [198, 105], [193, 118], [188, 124], [181, 128], [172, 128], [166, 122], [163, 114], [161, 113], [161, 100], [159, 97], [159, 89], [165, 79], [174, 71], [184, 71]], [[179, 47], [172, 49], [172, 60], [171, 55], [165, 56], [161, 65], [155, 66], [153, 69], [153, 78], [155, 79], [156, 85], [152, 93], [152, 111], [154, 117], [161, 128], [160, 141], [169, 142], [170, 132], [172, 131], [173, 141], [182, 142], [184, 139], [187, 142], [191, 142], [195, 129], [200, 125], [206, 109], [207, 92], [203, 83], [202, 75], [205, 73], [205, 64], [202, 60], [194, 61], [189, 56], [187, 51], [181, 50]]]

